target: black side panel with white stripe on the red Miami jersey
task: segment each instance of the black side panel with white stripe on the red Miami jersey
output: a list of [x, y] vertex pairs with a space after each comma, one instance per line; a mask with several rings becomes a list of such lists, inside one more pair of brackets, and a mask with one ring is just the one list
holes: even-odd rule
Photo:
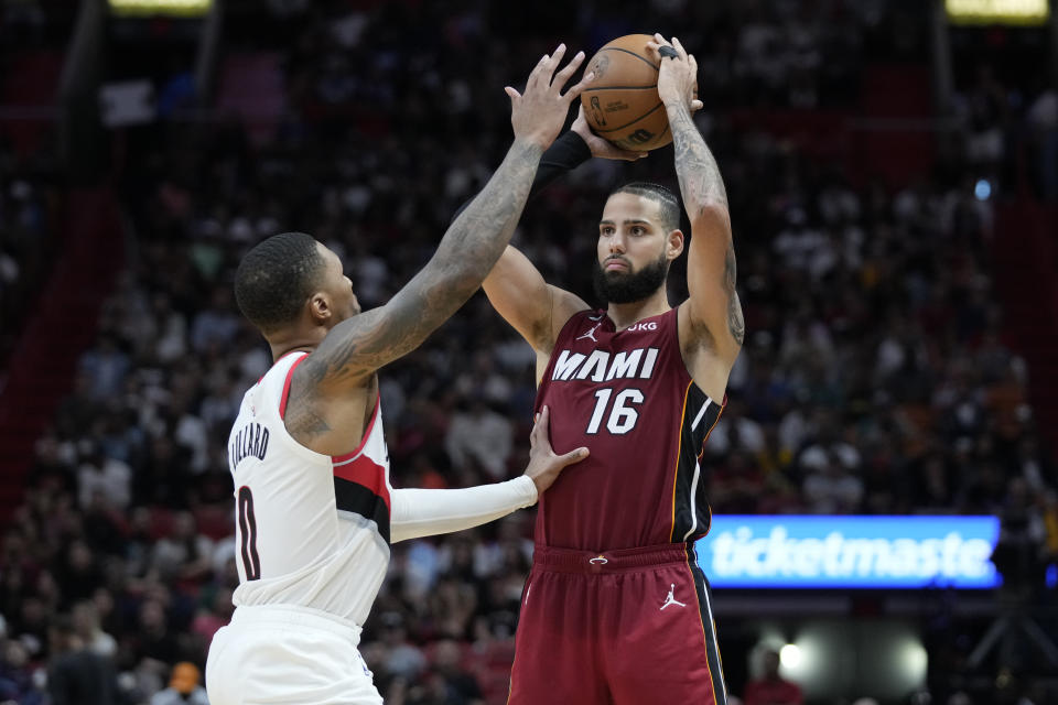
[[705, 496], [700, 462], [705, 441], [723, 410], [724, 406], [710, 399], [698, 384], [688, 383], [672, 480], [672, 532], [669, 540], [673, 543], [693, 541], [709, 533], [712, 510]]

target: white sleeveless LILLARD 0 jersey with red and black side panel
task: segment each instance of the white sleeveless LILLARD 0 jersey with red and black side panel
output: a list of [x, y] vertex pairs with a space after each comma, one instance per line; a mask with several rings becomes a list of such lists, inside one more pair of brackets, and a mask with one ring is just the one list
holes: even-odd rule
[[354, 453], [331, 457], [304, 447], [283, 414], [305, 357], [280, 358], [246, 392], [228, 438], [239, 568], [233, 603], [309, 607], [363, 626], [389, 563], [380, 402]]

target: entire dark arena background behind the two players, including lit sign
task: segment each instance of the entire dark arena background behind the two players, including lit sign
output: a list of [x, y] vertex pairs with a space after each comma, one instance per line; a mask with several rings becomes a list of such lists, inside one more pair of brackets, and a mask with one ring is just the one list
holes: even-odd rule
[[[0, 0], [0, 702], [82, 650], [119, 684], [85, 703], [182, 702], [229, 618], [241, 253], [304, 230], [386, 301], [498, 164], [503, 87], [654, 31], [698, 57], [746, 314], [700, 545], [732, 695], [775, 649], [811, 704], [1058, 703], [1046, 0]], [[517, 245], [590, 297], [633, 178], [674, 187], [671, 148], [560, 180]], [[520, 471], [532, 377], [476, 296], [381, 375], [393, 484]], [[532, 516], [393, 546], [387, 703], [505, 702]]]

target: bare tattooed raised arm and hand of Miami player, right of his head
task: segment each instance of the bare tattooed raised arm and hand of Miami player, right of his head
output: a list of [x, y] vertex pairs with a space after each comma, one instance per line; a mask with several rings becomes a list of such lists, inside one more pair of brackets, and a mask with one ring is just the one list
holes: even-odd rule
[[[655, 52], [666, 48], [665, 56], [660, 56], [658, 94], [669, 116], [676, 148], [676, 173], [691, 221], [687, 262], [690, 299], [684, 304], [689, 325], [681, 326], [683, 348], [691, 351], [692, 357], [697, 357], [693, 355], [695, 350], [705, 349], [711, 357], [726, 362], [730, 369], [742, 347], [745, 324], [735, 292], [735, 249], [727, 193], [716, 160], [691, 119], [698, 63], [676, 37], [668, 46], [668, 42], [656, 34], [655, 42], [648, 46]], [[690, 362], [693, 366], [693, 361]], [[724, 379], [726, 381], [726, 370]]]

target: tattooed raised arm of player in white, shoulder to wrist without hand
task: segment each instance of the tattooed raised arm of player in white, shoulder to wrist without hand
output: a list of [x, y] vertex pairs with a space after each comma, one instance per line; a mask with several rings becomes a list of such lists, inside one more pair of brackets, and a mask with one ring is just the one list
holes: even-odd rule
[[[360, 378], [417, 348], [482, 285], [518, 225], [542, 150], [516, 140], [438, 251], [393, 299], [343, 322], [310, 356], [317, 383]], [[306, 360], [307, 365], [310, 360]]]

